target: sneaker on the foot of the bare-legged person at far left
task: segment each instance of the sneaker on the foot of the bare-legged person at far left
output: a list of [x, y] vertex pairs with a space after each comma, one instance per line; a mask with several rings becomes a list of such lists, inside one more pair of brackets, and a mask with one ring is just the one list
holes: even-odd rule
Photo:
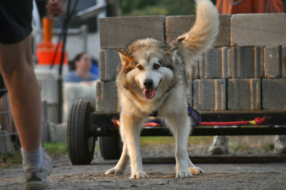
[[43, 151], [43, 166], [28, 167], [24, 166], [26, 189], [38, 190], [48, 186], [48, 175], [52, 171], [52, 160]]

